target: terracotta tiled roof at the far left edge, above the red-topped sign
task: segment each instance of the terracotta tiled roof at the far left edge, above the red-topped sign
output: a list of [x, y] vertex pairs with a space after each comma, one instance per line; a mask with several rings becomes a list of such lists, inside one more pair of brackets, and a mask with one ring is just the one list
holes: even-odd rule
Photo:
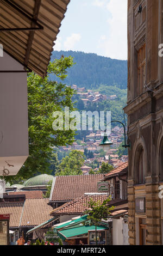
[[0, 203], [0, 214], [10, 214], [10, 227], [19, 227], [23, 202]]

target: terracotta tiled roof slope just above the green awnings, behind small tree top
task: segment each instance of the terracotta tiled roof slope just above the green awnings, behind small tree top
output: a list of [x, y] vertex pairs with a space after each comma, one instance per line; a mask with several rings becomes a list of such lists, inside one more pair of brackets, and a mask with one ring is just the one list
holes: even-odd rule
[[54, 209], [51, 211], [51, 215], [60, 215], [60, 214], [81, 214], [83, 213], [87, 208], [87, 203], [90, 201], [90, 199], [93, 199], [93, 201], [101, 201], [103, 202], [108, 198], [107, 194], [99, 194], [99, 195], [84, 195], [82, 197], [79, 197], [69, 203], [66, 203], [62, 206], [60, 206], [57, 209]]

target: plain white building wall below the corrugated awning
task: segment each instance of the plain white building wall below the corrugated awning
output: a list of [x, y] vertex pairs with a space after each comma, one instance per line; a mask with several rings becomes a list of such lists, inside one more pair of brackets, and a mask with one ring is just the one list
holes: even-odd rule
[[[22, 71], [7, 53], [0, 57], [0, 71]], [[3, 168], [16, 175], [28, 157], [27, 72], [0, 73], [0, 176]], [[8, 164], [14, 167], [9, 167]]]

